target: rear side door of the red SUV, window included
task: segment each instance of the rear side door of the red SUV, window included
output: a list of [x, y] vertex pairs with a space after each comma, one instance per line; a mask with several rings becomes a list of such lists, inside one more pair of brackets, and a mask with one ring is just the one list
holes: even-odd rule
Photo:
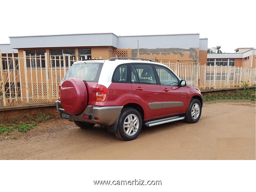
[[132, 64], [131, 75], [132, 92], [145, 110], [144, 120], [160, 117], [163, 92], [152, 64]]

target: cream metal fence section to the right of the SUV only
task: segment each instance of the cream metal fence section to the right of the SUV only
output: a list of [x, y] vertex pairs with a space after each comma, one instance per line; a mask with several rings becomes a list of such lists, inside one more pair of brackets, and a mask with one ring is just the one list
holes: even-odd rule
[[194, 63], [162, 63], [170, 67], [188, 85], [200, 90], [256, 85], [256, 68], [236, 66], [207, 66]]

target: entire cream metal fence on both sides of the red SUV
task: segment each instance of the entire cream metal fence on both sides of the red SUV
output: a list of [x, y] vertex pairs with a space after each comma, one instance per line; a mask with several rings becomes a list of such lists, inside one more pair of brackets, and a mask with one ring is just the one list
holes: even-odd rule
[[[78, 58], [76, 59], [78, 60]], [[0, 52], [0, 106], [53, 102], [58, 99], [58, 85], [76, 61], [74, 57], [14, 54]], [[188, 85], [201, 90], [232, 88], [256, 84], [256, 69], [234, 66], [206, 66], [198, 63], [163, 63]]]

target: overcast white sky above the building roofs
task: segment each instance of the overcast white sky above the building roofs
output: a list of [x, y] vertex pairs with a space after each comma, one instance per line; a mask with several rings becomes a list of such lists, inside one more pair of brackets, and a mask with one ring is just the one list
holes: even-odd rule
[[222, 52], [256, 48], [255, 0], [1, 1], [0, 44], [9, 36], [199, 33]]

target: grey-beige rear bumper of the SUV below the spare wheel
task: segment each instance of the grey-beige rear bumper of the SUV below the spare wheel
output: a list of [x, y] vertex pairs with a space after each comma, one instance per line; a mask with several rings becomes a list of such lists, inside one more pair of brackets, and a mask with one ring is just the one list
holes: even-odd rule
[[[62, 106], [60, 101], [56, 101], [56, 110], [60, 114], [60, 117], [62, 118], [62, 114], [68, 114]], [[93, 124], [99, 124], [104, 126], [112, 126], [115, 124], [123, 106], [106, 106], [106, 107], [98, 107], [98, 106], [92, 106], [88, 105], [86, 106], [84, 112], [82, 112], [79, 115], [71, 115], [69, 114], [69, 120], [73, 121], [82, 121], [82, 122], [88, 122]], [[86, 116], [89, 116], [90, 119], [85, 119], [84, 114]], [[95, 120], [99, 119], [99, 120]]]

